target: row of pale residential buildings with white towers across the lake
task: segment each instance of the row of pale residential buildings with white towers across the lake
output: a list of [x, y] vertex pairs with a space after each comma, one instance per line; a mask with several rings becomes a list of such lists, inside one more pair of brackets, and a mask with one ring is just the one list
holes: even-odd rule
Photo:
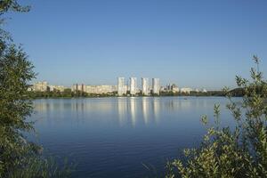
[[[142, 85], [141, 89], [137, 85], [137, 78], [130, 77], [125, 84], [125, 77], [117, 77], [117, 85], [72, 85], [72, 92], [83, 92], [83, 93], [94, 93], [94, 94], [102, 94], [102, 93], [117, 93], [118, 96], [123, 96], [126, 94], [136, 95], [142, 93], [142, 95], [150, 95], [150, 94], [159, 94], [162, 92], [173, 92], [173, 93], [190, 93], [192, 91], [195, 92], [204, 92], [206, 90], [192, 90], [191, 88], [181, 88], [179, 89], [176, 85], [166, 85], [166, 87], [160, 85], [159, 78], [152, 78], [152, 84], [150, 85], [150, 79], [148, 77], [142, 77]], [[67, 87], [63, 85], [49, 85], [47, 82], [36, 82], [29, 88], [29, 91], [36, 92], [47, 92], [47, 91], [59, 91], [63, 92]]]

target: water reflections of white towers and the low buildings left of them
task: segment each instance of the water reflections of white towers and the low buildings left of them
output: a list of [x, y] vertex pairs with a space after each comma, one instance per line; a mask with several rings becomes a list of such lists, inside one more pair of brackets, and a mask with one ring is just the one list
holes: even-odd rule
[[[113, 100], [113, 99], [112, 99]], [[138, 124], [148, 125], [155, 121], [159, 122], [159, 110], [161, 107], [160, 98], [151, 97], [130, 97], [117, 98], [114, 101], [109, 99], [57, 99], [34, 101], [36, 112], [41, 117], [55, 115], [57, 119], [64, 119], [66, 115], [72, 119], [115, 119], [119, 125]], [[117, 105], [114, 103], [117, 102]], [[170, 106], [168, 106], [170, 107]], [[117, 112], [116, 112], [117, 110]], [[117, 117], [110, 117], [109, 114], [117, 114]], [[92, 117], [99, 116], [99, 117]], [[55, 119], [55, 118], [54, 118]]]

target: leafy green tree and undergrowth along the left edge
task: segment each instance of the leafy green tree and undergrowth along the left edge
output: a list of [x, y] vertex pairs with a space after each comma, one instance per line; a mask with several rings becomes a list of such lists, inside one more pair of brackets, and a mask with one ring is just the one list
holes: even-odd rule
[[[15, 0], [0, 1], [0, 25], [5, 12], [27, 12]], [[28, 83], [35, 77], [33, 65], [20, 47], [0, 28], [0, 177], [67, 177], [69, 167], [58, 169], [53, 158], [44, 158], [42, 148], [29, 142], [25, 133], [34, 132], [28, 122], [32, 102]]]

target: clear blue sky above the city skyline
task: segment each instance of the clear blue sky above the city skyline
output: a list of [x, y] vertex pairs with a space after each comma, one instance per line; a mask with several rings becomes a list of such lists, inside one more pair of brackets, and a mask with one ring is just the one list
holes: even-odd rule
[[161, 85], [221, 89], [249, 77], [253, 54], [267, 71], [267, 1], [24, 0], [5, 29], [53, 85]]

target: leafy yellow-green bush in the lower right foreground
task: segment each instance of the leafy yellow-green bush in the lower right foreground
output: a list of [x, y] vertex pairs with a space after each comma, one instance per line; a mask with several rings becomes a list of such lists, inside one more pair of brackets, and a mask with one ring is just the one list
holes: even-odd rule
[[167, 164], [167, 178], [182, 177], [267, 177], [267, 83], [257, 69], [251, 69], [251, 81], [236, 77], [245, 89], [242, 103], [231, 98], [227, 109], [236, 121], [234, 129], [220, 125], [220, 106], [214, 105], [214, 125], [208, 126], [202, 117], [207, 134], [198, 149], [184, 150], [186, 160], [175, 159]]

